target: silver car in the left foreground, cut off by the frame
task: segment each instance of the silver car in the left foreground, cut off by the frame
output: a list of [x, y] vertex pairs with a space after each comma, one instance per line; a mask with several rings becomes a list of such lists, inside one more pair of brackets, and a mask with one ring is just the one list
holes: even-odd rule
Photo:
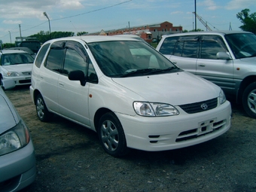
[[21, 190], [35, 181], [35, 151], [26, 124], [1, 87], [0, 125], [0, 190]]

